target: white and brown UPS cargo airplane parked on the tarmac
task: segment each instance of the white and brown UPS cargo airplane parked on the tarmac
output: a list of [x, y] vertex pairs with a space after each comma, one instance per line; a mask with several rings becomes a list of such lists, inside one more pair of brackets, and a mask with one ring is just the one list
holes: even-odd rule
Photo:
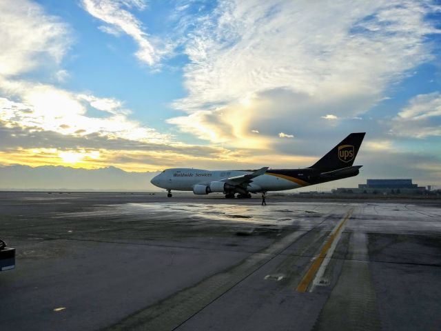
[[356, 176], [362, 165], [353, 165], [365, 132], [351, 133], [314, 165], [302, 169], [202, 170], [167, 169], [151, 183], [168, 191], [193, 191], [194, 194], [224, 193], [226, 198], [249, 198], [251, 193], [291, 190], [327, 181]]

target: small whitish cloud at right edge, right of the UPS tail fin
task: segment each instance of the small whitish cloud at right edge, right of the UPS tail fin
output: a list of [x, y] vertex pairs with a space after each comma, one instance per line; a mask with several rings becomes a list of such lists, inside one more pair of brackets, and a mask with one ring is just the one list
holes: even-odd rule
[[441, 136], [441, 93], [413, 97], [390, 125], [391, 133], [400, 137]]

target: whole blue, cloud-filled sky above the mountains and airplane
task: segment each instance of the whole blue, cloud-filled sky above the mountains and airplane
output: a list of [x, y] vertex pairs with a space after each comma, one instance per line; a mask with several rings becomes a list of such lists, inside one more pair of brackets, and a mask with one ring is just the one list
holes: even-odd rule
[[367, 132], [360, 176], [329, 185], [441, 185], [441, 1], [2, 0], [0, 13], [0, 167], [302, 168]]

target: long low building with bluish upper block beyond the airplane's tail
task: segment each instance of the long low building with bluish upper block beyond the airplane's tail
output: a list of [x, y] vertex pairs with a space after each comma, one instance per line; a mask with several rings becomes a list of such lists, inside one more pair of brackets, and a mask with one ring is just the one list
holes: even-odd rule
[[424, 194], [426, 188], [412, 183], [412, 179], [367, 179], [358, 188], [338, 188], [336, 194]]

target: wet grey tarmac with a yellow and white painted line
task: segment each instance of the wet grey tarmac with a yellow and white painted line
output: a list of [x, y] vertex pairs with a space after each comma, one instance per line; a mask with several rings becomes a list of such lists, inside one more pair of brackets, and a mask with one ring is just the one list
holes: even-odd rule
[[0, 192], [0, 330], [441, 330], [441, 203]]

